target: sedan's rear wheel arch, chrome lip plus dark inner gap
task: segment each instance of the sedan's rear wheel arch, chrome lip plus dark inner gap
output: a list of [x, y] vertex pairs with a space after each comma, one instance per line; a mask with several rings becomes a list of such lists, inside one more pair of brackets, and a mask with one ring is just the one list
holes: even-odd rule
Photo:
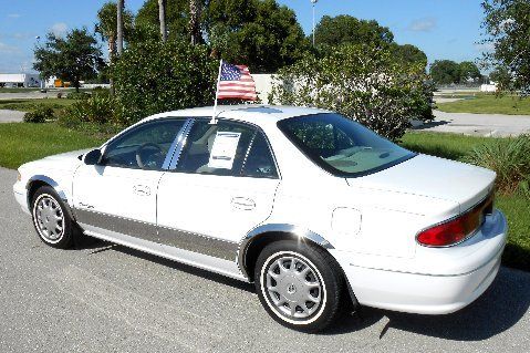
[[252, 229], [239, 243], [238, 266], [249, 281], [253, 281], [253, 270], [260, 251], [278, 240], [309, 241], [323, 249], [334, 247], [316, 232], [285, 224], [270, 224]]

